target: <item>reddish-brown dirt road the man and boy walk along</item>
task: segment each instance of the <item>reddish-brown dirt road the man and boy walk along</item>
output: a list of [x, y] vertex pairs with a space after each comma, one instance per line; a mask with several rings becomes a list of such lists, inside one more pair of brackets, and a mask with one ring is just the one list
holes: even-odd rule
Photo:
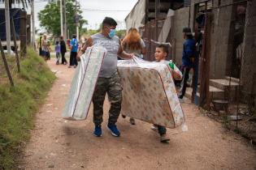
[[92, 109], [85, 121], [61, 117], [74, 69], [48, 62], [58, 79], [37, 113], [31, 141], [20, 159], [20, 169], [256, 169], [256, 151], [240, 136], [199, 114], [189, 101], [183, 105], [189, 130], [167, 130], [168, 144], [150, 124], [119, 117], [121, 137], [106, 130], [109, 104], [105, 102], [103, 136], [93, 136]]

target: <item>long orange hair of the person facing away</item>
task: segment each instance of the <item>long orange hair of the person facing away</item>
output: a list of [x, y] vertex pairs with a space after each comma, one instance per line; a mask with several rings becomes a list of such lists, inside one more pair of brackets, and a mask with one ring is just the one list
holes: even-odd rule
[[123, 40], [124, 47], [128, 47], [132, 50], [141, 49], [141, 36], [137, 31], [137, 28], [130, 28], [128, 35]]

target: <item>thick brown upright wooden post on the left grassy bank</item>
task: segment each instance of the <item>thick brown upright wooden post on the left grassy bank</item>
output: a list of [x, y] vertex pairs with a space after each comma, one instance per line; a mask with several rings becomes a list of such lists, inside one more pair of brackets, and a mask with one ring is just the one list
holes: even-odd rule
[[27, 47], [27, 12], [20, 13], [20, 57], [24, 57]]

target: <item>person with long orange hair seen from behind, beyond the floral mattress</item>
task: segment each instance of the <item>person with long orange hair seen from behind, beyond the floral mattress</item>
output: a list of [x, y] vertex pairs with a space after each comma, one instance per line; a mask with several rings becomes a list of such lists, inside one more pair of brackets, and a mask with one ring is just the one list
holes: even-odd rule
[[[141, 39], [137, 28], [129, 29], [128, 35], [122, 40], [122, 48], [126, 53], [133, 53], [136, 57], [143, 58], [143, 55], [145, 55], [145, 43]], [[124, 115], [122, 117], [125, 118]], [[130, 117], [130, 123], [135, 125], [134, 118]]]

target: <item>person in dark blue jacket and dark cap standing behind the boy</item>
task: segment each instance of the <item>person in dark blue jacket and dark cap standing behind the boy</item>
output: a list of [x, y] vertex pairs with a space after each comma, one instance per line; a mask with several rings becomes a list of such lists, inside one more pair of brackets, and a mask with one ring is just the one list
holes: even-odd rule
[[190, 28], [183, 28], [183, 53], [182, 66], [183, 78], [180, 87], [179, 98], [182, 99], [187, 88], [187, 81], [189, 79], [189, 70], [194, 68], [194, 60], [196, 57], [196, 42], [193, 40], [193, 35]]

